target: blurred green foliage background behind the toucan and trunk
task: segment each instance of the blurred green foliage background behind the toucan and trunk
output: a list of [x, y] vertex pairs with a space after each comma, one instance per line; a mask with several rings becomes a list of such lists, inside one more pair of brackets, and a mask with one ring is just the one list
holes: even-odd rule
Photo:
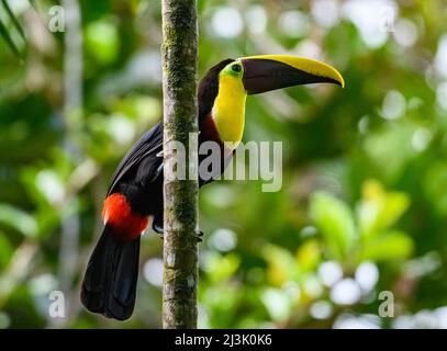
[[[131, 320], [87, 313], [79, 285], [111, 174], [163, 113], [160, 3], [8, 3], [24, 35], [0, 4], [0, 328], [159, 328], [153, 231]], [[198, 8], [201, 76], [226, 57], [292, 54], [346, 80], [248, 99], [244, 139], [283, 141], [283, 185], [202, 189], [199, 326], [447, 328], [447, 2]], [[65, 318], [48, 316], [55, 290]], [[379, 315], [384, 291], [393, 317]]]

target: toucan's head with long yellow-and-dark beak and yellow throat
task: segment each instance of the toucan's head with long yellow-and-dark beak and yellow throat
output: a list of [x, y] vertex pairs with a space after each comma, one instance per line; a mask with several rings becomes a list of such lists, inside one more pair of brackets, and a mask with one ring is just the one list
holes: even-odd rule
[[335, 68], [311, 58], [259, 55], [225, 59], [211, 68], [200, 83], [199, 115], [202, 120], [211, 114], [222, 140], [238, 143], [247, 94], [311, 83], [345, 87]]

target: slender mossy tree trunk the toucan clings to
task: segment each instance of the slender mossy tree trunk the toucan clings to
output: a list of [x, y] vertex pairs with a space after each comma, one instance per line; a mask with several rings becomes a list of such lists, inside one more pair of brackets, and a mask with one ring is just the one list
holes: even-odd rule
[[164, 328], [197, 328], [198, 285], [198, 181], [174, 177], [174, 143], [185, 146], [186, 170], [197, 169], [197, 7], [195, 0], [163, 2], [164, 93]]

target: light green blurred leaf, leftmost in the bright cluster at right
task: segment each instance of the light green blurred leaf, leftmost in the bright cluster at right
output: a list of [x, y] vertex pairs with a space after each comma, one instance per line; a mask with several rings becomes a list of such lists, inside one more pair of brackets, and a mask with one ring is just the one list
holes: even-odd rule
[[349, 207], [328, 193], [317, 192], [311, 197], [310, 214], [323, 234], [331, 254], [343, 261], [356, 241]]

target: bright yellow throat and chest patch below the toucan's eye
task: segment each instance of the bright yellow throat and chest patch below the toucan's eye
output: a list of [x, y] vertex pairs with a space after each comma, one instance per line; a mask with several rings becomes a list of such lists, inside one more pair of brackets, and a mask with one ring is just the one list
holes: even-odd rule
[[241, 79], [221, 75], [212, 115], [221, 140], [234, 143], [234, 148], [244, 134], [246, 98]]

